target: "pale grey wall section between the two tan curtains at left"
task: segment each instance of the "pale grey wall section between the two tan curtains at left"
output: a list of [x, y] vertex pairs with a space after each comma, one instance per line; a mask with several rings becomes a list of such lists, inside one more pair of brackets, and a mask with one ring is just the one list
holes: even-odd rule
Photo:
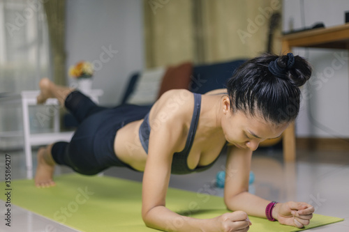
[[144, 66], [142, 14], [139, 0], [67, 0], [66, 66], [96, 64], [92, 88], [103, 89], [101, 105], [117, 105], [128, 77]]

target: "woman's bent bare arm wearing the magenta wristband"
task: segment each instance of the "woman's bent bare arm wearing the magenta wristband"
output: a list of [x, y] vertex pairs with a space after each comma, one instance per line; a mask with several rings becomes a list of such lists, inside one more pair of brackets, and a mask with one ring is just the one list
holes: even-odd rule
[[[251, 150], [230, 147], [226, 163], [224, 201], [230, 210], [244, 210], [248, 215], [266, 218], [265, 208], [270, 201], [248, 192], [251, 157]], [[276, 204], [272, 216], [281, 224], [302, 228], [309, 224], [313, 211], [313, 206], [307, 203], [289, 201]]]

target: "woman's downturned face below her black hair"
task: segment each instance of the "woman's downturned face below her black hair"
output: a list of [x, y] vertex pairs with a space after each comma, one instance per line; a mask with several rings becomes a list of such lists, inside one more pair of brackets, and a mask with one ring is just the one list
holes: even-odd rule
[[281, 136], [288, 123], [273, 125], [260, 116], [232, 112], [230, 102], [223, 101], [222, 129], [225, 139], [237, 148], [256, 150], [261, 141]]

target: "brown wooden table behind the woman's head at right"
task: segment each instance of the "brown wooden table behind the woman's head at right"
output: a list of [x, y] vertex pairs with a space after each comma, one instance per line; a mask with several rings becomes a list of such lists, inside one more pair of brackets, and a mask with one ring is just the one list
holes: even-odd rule
[[[292, 33], [281, 38], [282, 51], [287, 54], [292, 47], [320, 47], [349, 49], [349, 24], [329, 28], [313, 29]], [[295, 124], [292, 123], [283, 134], [283, 157], [285, 161], [295, 161]]]

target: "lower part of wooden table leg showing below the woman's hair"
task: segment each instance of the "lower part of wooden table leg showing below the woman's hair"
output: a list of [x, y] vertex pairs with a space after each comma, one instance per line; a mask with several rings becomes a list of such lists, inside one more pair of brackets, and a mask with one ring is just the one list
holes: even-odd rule
[[285, 162], [296, 160], [295, 123], [290, 124], [283, 132], [283, 160]]

